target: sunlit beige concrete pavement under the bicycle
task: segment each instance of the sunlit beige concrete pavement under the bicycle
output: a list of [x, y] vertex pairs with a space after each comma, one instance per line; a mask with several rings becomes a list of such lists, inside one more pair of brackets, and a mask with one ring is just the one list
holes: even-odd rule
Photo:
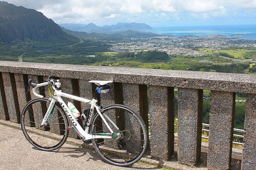
[[[1, 122], [8, 122], [2, 121]], [[0, 122], [0, 169], [1, 170], [120, 170], [120, 169], [157, 169], [154, 165], [136, 163], [132, 167], [117, 167], [101, 160], [92, 149], [80, 148], [74, 144], [65, 143], [56, 151], [41, 151], [35, 149], [25, 139], [19, 129], [2, 125]], [[19, 124], [11, 123], [19, 128]], [[80, 140], [76, 140], [80, 141]], [[82, 142], [82, 141], [81, 141]]]

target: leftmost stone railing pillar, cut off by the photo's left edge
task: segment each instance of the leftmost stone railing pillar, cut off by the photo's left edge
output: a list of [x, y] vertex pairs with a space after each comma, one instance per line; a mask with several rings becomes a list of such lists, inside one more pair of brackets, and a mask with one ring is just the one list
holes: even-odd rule
[[4, 82], [3, 82], [1, 72], [0, 72], [0, 119], [10, 120], [7, 102], [6, 102], [6, 96], [5, 96], [5, 87], [4, 87]]

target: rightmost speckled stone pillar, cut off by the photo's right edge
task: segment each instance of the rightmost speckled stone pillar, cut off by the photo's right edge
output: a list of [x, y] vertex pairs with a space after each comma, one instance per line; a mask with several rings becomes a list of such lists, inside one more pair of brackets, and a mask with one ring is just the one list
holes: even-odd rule
[[256, 94], [247, 94], [242, 170], [256, 169]]

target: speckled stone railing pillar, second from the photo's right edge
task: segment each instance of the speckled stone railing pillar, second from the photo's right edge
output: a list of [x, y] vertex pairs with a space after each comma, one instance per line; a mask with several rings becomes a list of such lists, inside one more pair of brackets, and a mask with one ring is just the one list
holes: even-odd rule
[[229, 169], [234, 132], [235, 93], [211, 91], [209, 170]]

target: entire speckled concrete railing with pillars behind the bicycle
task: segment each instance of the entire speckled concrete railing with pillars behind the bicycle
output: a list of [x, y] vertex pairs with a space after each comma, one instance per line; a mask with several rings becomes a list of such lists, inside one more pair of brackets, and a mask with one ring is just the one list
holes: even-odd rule
[[[26, 93], [28, 79], [41, 83], [48, 75], [60, 78], [62, 91], [88, 99], [93, 89], [88, 80], [113, 80], [112, 93], [101, 95], [100, 104], [127, 105], [146, 123], [150, 114], [150, 155], [160, 160], [169, 160], [174, 152], [174, 87], [178, 87], [177, 159], [192, 166], [201, 155], [203, 89], [211, 90], [208, 169], [229, 169], [235, 93], [247, 93], [242, 169], [256, 169], [254, 75], [0, 61], [0, 119], [20, 123], [23, 106], [34, 98]], [[85, 108], [80, 102], [75, 105], [80, 111]]]

